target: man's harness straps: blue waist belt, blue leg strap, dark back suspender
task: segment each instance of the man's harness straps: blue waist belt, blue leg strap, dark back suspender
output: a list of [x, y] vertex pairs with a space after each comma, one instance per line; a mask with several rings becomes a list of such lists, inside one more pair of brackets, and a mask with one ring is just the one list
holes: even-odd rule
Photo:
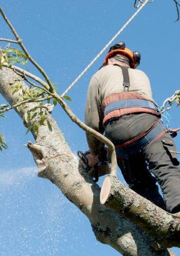
[[[123, 87], [124, 92], [129, 91], [130, 79], [128, 68], [125, 66], [121, 66], [118, 64], [114, 64], [115, 66], [119, 66], [122, 69], [123, 73]], [[151, 101], [145, 99], [120, 99], [114, 102], [111, 102], [105, 107], [104, 116], [108, 115], [111, 111], [123, 108], [149, 108], [155, 110], [157, 113], [161, 113], [160, 109]], [[144, 132], [143, 134], [133, 138], [126, 143], [121, 145], [117, 145], [116, 155], [117, 158], [128, 158], [130, 155], [139, 154], [143, 151], [144, 147], [146, 147], [150, 142], [155, 139], [161, 138], [163, 134], [167, 132], [166, 128], [163, 126], [161, 120], [157, 120], [152, 127]]]

